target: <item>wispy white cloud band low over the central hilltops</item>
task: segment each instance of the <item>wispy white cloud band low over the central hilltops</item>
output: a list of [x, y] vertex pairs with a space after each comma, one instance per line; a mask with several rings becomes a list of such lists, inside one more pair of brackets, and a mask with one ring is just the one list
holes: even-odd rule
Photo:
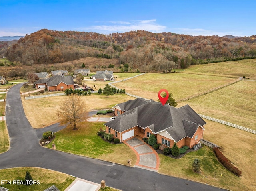
[[[112, 32], [128, 32], [132, 30], [146, 30], [151, 32], [164, 32], [166, 26], [159, 25], [156, 23], [156, 19], [152, 20], [133, 20], [127, 21], [108, 21], [103, 22], [104, 25], [96, 25], [90, 27], [81, 27], [77, 30], [93, 31], [99, 33], [112, 33]], [[106, 23], [111, 23], [106, 25]]]

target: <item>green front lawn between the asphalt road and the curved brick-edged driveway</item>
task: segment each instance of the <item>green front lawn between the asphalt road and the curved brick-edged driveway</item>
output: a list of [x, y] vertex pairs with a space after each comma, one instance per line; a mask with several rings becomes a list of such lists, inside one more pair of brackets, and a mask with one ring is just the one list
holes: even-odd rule
[[[55, 133], [56, 138], [52, 143], [56, 145], [57, 150], [123, 165], [131, 159], [132, 166], [135, 165], [136, 154], [126, 144], [110, 144], [97, 135], [100, 128], [105, 129], [103, 122], [82, 122], [78, 127], [79, 130], [76, 131], [67, 127]], [[51, 144], [48, 148], [51, 148]]]

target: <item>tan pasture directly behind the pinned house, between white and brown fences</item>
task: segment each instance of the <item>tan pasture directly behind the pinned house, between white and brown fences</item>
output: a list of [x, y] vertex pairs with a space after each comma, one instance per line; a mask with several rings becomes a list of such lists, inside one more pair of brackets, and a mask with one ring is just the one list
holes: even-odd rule
[[197, 74], [147, 73], [114, 85], [125, 89], [128, 93], [153, 100], [158, 99], [160, 89], [167, 89], [176, 100], [180, 100], [232, 83], [235, 80], [234, 78]]

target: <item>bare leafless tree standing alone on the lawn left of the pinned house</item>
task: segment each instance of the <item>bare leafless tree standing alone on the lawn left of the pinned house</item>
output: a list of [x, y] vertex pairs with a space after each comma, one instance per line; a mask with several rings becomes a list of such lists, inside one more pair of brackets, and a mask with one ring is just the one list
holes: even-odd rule
[[79, 119], [85, 118], [86, 103], [82, 100], [80, 96], [66, 96], [66, 99], [60, 105], [60, 109], [57, 110], [58, 115], [65, 122], [73, 122], [73, 130], [77, 130], [76, 122]]

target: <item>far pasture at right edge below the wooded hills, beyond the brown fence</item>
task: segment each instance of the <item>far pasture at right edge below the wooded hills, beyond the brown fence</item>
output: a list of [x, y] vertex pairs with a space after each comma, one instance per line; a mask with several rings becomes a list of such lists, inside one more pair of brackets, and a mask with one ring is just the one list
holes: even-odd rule
[[202, 65], [191, 65], [186, 72], [228, 75], [256, 79], [256, 59], [210, 63]]

